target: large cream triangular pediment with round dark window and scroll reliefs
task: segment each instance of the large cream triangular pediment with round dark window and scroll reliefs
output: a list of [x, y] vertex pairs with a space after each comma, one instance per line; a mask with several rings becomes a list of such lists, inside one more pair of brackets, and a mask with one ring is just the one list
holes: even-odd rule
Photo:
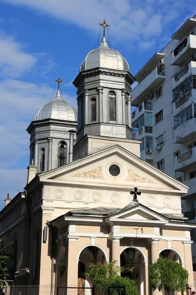
[[[111, 175], [110, 167], [119, 171]], [[119, 173], [119, 174], [118, 174]], [[122, 147], [106, 148], [39, 176], [41, 181], [186, 193], [187, 187]]]

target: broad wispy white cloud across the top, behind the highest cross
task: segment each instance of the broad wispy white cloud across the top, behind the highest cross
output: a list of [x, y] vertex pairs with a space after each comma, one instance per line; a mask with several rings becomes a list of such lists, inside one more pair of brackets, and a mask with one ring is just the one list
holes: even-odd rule
[[[146, 49], [161, 43], [160, 36], [186, 7], [192, 17], [194, 0], [186, 5], [184, 0], [2, 0], [15, 5], [24, 5], [65, 22], [71, 22], [90, 33], [98, 33], [98, 23], [103, 18], [111, 25], [113, 42], [132, 42], [132, 47], [147, 42]], [[60, 7], [60, 9], [59, 9]], [[130, 47], [129, 47], [130, 48]]]

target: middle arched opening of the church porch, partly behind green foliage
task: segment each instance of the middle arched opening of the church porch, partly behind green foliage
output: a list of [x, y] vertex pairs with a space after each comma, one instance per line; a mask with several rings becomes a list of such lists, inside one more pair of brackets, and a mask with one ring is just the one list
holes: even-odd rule
[[[121, 273], [121, 276], [136, 280], [140, 294], [144, 295], [145, 257], [141, 250], [136, 247], [126, 247], [121, 253], [121, 266], [130, 268], [129, 271]], [[134, 267], [133, 271], [132, 267]]]

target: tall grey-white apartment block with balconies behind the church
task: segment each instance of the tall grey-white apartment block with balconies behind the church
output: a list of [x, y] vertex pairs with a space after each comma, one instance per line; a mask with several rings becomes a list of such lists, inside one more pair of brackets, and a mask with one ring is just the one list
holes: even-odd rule
[[[135, 78], [133, 138], [143, 140], [143, 159], [190, 187], [182, 196], [182, 210], [196, 223], [196, 16]], [[196, 270], [196, 230], [191, 238]]]

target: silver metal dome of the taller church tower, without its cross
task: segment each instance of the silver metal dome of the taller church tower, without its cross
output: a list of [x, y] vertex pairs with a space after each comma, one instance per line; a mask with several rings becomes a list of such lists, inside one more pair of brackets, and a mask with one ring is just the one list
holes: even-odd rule
[[98, 49], [89, 52], [82, 62], [79, 72], [98, 67], [129, 71], [126, 59], [117, 50], [108, 47], [105, 37]]

